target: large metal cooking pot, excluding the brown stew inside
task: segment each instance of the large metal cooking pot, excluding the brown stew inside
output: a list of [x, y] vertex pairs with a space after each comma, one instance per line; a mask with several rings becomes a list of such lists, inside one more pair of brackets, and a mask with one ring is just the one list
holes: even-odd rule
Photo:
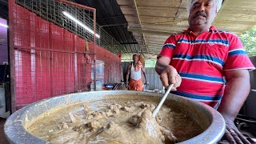
[[[128, 94], [128, 96], [127, 96]], [[129, 97], [129, 95], [135, 95]], [[126, 98], [129, 101], [136, 100], [154, 100], [158, 101], [161, 94], [150, 92], [137, 92], [127, 90], [98, 91], [98, 92], [82, 92], [75, 94], [66, 94], [59, 97], [49, 98], [40, 102], [35, 102], [29, 106], [16, 111], [7, 119], [4, 132], [10, 143], [46, 143], [42, 139], [36, 138], [26, 131], [26, 123], [37, 118], [40, 114], [47, 110], [57, 108], [59, 106], [67, 106], [74, 102], [88, 102], [91, 100], [102, 100], [108, 98]], [[180, 143], [215, 143], [222, 138], [225, 130], [225, 122], [222, 115], [210, 106], [206, 106], [201, 102], [196, 102], [189, 98], [183, 98], [174, 94], [169, 94], [165, 104], [169, 104], [182, 110], [186, 114], [190, 114], [198, 123], [202, 125], [202, 134], [194, 138], [190, 138]]]

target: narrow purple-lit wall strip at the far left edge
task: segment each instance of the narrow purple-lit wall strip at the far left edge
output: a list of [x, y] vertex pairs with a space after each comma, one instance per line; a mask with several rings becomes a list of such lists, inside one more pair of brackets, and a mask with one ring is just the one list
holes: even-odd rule
[[[6, 20], [2, 18], [0, 18], [0, 23], [7, 25]], [[0, 65], [2, 62], [8, 62], [7, 28], [0, 26]]]

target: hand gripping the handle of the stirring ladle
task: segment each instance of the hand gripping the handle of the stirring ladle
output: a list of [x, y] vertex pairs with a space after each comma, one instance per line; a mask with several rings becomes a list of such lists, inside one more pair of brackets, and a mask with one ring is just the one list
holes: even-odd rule
[[182, 78], [173, 66], [165, 66], [164, 70], [160, 74], [160, 79], [165, 88], [167, 88], [170, 84], [174, 84], [171, 89], [172, 91], [176, 91], [176, 88], [180, 86], [182, 82]]

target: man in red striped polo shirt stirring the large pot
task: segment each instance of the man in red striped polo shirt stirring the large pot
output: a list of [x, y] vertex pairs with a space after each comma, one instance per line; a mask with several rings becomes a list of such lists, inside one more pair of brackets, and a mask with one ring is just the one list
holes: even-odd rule
[[217, 30], [214, 21], [222, 0], [189, 0], [189, 28], [167, 38], [155, 70], [173, 94], [194, 98], [217, 109], [226, 120], [230, 143], [250, 143], [234, 126], [250, 91], [248, 70], [254, 66], [239, 38]]

